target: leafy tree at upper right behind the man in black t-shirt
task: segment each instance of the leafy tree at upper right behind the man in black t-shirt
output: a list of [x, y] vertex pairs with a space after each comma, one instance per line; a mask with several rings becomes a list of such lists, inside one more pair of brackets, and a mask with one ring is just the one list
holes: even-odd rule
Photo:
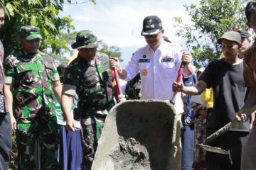
[[192, 26], [175, 17], [176, 35], [186, 39], [186, 46], [193, 55], [196, 67], [221, 55], [217, 40], [228, 30], [247, 30], [245, 6], [248, 0], [201, 0], [199, 5], [183, 5], [191, 16]]

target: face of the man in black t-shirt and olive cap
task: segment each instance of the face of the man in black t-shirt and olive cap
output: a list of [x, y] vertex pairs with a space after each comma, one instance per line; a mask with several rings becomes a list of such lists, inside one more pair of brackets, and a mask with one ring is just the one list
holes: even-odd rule
[[221, 41], [221, 50], [225, 56], [225, 60], [235, 60], [238, 57], [238, 50], [241, 44], [230, 40]]

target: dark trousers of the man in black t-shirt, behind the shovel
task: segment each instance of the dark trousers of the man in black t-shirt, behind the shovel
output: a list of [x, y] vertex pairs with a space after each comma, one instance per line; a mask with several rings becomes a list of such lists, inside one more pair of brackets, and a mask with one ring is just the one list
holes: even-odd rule
[[[217, 129], [207, 128], [207, 136], [213, 134]], [[240, 170], [242, 147], [249, 132], [228, 131], [216, 138], [208, 145], [211, 147], [220, 147], [230, 152], [230, 154], [217, 154], [206, 152], [207, 170]]]

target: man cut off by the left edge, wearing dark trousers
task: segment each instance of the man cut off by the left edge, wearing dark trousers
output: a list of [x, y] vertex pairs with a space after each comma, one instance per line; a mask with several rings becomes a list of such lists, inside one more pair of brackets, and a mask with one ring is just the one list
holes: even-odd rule
[[[4, 26], [4, 5], [0, 2], [0, 28]], [[4, 89], [4, 45], [0, 41], [0, 169], [8, 169], [11, 154], [11, 118]]]

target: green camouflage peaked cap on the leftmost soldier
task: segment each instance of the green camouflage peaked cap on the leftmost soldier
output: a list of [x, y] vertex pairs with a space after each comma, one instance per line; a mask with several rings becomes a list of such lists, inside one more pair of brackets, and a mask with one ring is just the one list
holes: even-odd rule
[[33, 40], [36, 38], [42, 39], [40, 28], [35, 26], [22, 26], [20, 29], [20, 35], [27, 40]]

